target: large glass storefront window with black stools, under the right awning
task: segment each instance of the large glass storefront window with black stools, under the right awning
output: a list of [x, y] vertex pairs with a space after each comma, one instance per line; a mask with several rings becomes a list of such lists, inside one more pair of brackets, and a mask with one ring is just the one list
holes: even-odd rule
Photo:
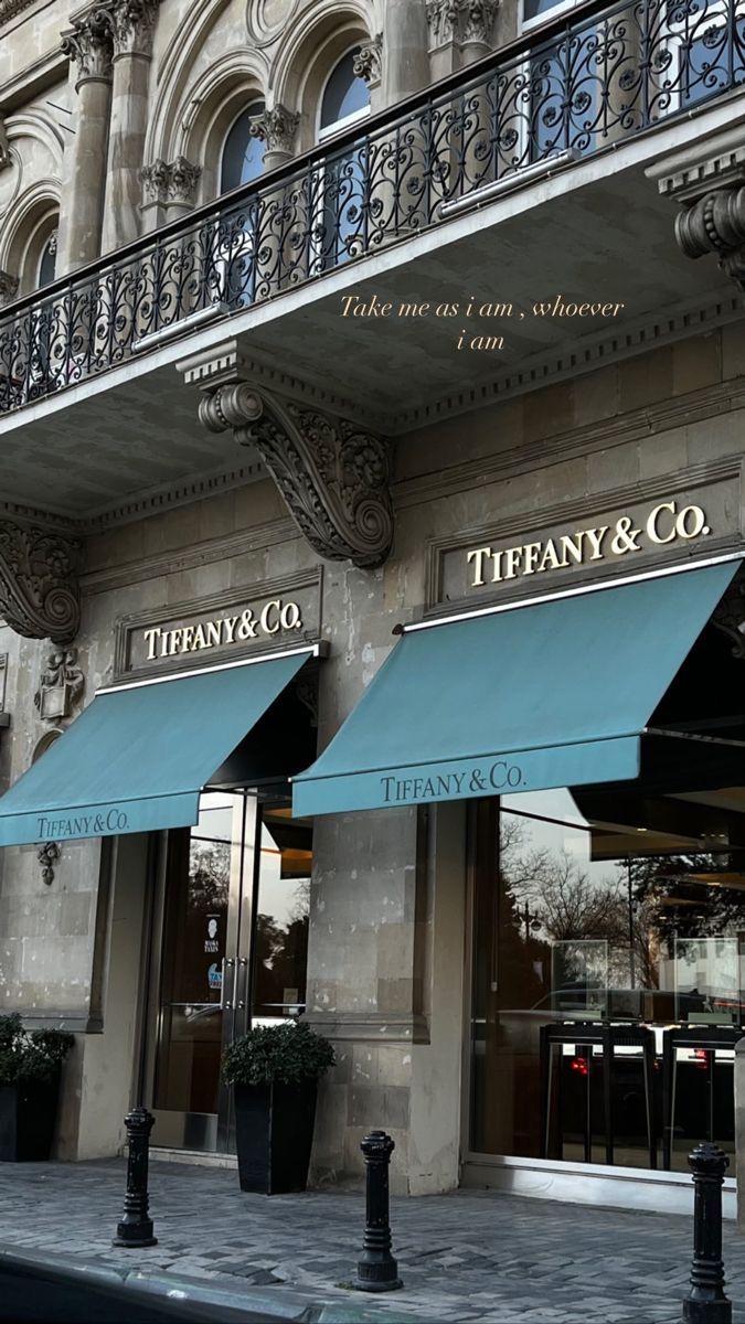
[[472, 806], [472, 1152], [688, 1170], [709, 1136], [733, 1172], [745, 792], [651, 804]]

